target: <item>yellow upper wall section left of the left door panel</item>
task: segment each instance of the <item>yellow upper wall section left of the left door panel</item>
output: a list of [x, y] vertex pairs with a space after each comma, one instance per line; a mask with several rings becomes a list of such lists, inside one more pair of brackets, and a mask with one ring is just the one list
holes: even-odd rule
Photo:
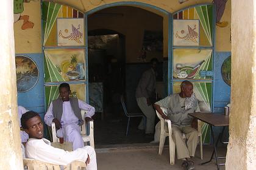
[[24, 4], [21, 15], [29, 15], [29, 21], [34, 23], [32, 29], [22, 30], [23, 20], [14, 26], [15, 53], [41, 53], [41, 5], [40, 1], [30, 1]]

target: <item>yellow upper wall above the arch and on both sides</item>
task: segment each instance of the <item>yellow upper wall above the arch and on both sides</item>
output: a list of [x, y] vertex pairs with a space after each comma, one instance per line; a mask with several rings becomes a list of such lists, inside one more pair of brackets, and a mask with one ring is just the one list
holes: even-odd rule
[[[130, 0], [127, 0], [130, 1]], [[106, 4], [112, 4], [115, 2], [123, 2], [117, 0], [81, 0], [81, 1], [71, 1], [71, 0], [57, 0], [55, 2], [59, 2], [62, 4], [70, 5], [76, 9], [81, 10], [82, 12], [88, 12], [96, 7]], [[133, 1], [135, 2], [135, 1]], [[203, 4], [203, 3], [211, 3], [212, 0], [190, 0], [184, 2], [183, 4], [179, 4], [179, 1], [169, 1], [169, 0], [140, 0], [136, 2], [142, 2], [150, 5], [154, 5], [155, 7], [159, 7], [167, 12], [174, 13], [177, 10], [183, 9], [185, 7], [189, 7], [191, 5]], [[137, 5], [137, 7], [140, 7]], [[164, 42], [164, 52], [163, 56], [168, 55], [168, 25], [167, 18], [163, 13], [158, 12], [155, 9], [150, 9], [148, 7], [140, 7], [151, 12], [157, 13], [158, 15], [164, 16], [163, 20], [163, 42]], [[229, 22], [229, 25], [224, 28], [216, 27], [216, 51], [224, 52], [230, 51], [230, 18], [231, 18], [231, 0], [227, 1], [226, 10], [224, 15], [222, 16], [221, 21]], [[41, 17], [40, 17], [40, 1], [30, 1], [29, 3], [24, 3], [24, 12], [22, 15], [29, 15], [30, 21], [34, 22], [33, 29], [21, 30], [21, 25], [23, 21], [18, 21], [14, 24], [15, 31], [15, 53], [40, 53], [41, 52]]]

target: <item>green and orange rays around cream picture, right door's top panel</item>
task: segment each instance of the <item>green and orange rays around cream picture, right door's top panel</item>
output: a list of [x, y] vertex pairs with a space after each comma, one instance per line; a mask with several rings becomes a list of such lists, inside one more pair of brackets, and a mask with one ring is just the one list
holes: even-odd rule
[[[213, 44], [213, 5], [198, 5], [173, 15], [176, 19], [199, 20], [199, 46], [212, 46]], [[194, 29], [192, 26], [191, 29]], [[176, 33], [176, 32], [175, 32]], [[184, 32], [185, 34], [185, 32]], [[193, 33], [195, 34], [195, 33]], [[174, 35], [174, 37], [176, 37]], [[174, 46], [177, 46], [174, 44]]]

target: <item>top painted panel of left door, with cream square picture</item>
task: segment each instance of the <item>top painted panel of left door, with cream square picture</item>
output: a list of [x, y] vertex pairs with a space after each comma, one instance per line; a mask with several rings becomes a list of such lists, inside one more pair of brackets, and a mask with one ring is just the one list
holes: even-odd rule
[[42, 2], [43, 46], [84, 46], [84, 14], [72, 7]]

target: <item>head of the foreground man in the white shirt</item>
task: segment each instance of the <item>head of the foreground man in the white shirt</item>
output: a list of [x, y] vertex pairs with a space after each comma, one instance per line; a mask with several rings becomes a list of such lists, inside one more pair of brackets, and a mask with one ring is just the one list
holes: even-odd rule
[[28, 111], [21, 116], [21, 126], [29, 138], [43, 138], [43, 122], [37, 112]]

